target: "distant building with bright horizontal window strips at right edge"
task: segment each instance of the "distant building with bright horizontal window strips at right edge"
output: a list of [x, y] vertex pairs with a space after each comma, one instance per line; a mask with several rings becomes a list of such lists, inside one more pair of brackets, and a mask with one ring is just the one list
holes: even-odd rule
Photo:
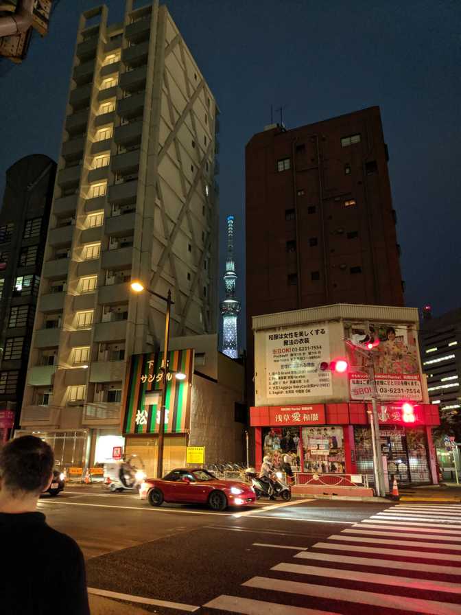
[[432, 404], [438, 404], [440, 417], [458, 425], [461, 408], [461, 310], [431, 316], [429, 306], [423, 310], [419, 332], [421, 363], [427, 374], [427, 391]]

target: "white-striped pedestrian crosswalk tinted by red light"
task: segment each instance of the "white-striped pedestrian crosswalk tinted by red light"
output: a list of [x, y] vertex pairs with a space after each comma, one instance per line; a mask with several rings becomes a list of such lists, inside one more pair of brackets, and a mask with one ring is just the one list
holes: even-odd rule
[[311, 546], [287, 545], [265, 574], [203, 612], [461, 615], [461, 505], [396, 504]]

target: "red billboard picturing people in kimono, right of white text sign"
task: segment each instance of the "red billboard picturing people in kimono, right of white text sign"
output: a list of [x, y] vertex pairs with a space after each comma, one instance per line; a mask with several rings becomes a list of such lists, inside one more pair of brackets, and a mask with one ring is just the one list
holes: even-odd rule
[[373, 343], [369, 353], [373, 357], [377, 399], [422, 401], [416, 330], [412, 325], [354, 323], [344, 328], [346, 339], [352, 342], [346, 344], [351, 399], [371, 399], [373, 387], [368, 359], [356, 349], [370, 342]]

